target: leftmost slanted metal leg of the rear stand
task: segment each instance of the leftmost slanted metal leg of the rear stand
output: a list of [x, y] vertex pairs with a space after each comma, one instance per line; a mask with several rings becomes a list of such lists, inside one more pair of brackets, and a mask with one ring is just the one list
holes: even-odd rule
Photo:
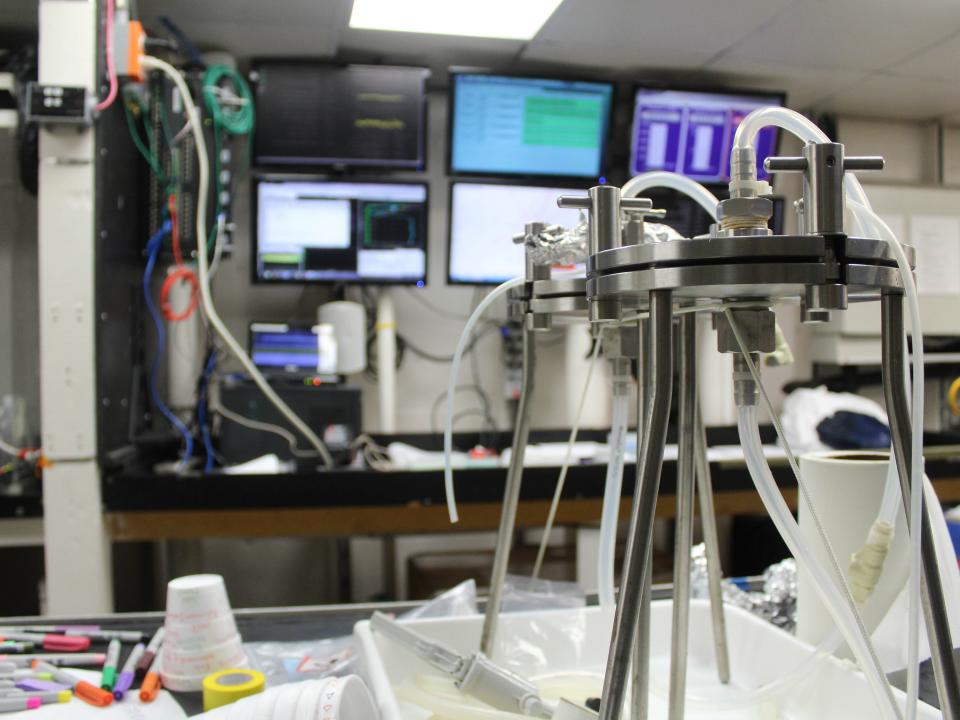
[[522, 345], [523, 377], [520, 385], [520, 399], [517, 403], [517, 417], [513, 428], [507, 484], [503, 493], [503, 510], [500, 513], [500, 527], [497, 530], [497, 549], [493, 558], [493, 572], [490, 575], [490, 596], [487, 598], [483, 631], [480, 635], [480, 649], [488, 656], [493, 653], [493, 643], [497, 634], [503, 583], [507, 577], [513, 532], [517, 524], [517, 505], [520, 503], [520, 485], [523, 479], [523, 456], [526, 454], [527, 438], [530, 435], [530, 398], [533, 395], [536, 376], [536, 345], [534, 333], [526, 325], [523, 328]]

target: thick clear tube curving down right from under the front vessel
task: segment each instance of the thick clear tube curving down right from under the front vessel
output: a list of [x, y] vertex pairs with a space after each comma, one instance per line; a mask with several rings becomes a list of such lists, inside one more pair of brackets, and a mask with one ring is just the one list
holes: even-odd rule
[[750, 477], [753, 478], [757, 492], [760, 494], [760, 499], [791, 554], [804, 571], [810, 574], [817, 593], [856, 656], [860, 668], [873, 691], [880, 716], [883, 718], [899, 718], [899, 709], [893, 699], [887, 679], [877, 665], [871, 661], [867, 638], [860, 632], [857, 620], [852, 614], [853, 611], [845, 602], [833, 579], [800, 535], [800, 526], [790, 512], [790, 508], [784, 501], [777, 483], [770, 473], [770, 468], [763, 455], [763, 447], [760, 444], [760, 431], [757, 425], [757, 409], [755, 406], [741, 406], [739, 408], [737, 427], [740, 431], [740, 443], [743, 446], [747, 469], [750, 472]]

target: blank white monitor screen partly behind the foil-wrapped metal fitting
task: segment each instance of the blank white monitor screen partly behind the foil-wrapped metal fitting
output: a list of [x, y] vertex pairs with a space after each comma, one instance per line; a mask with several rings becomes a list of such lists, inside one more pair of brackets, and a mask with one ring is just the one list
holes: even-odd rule
[[528, 222], [573, 227], [579, 210], [557, 207], [561, 195], [583, 195], [586, 188], [505, 183], [454, 182], [450, 187], [450, 243], [447, 276], [451, 283], [499, 284], [523, 275], [523, 245], [513, 236]]

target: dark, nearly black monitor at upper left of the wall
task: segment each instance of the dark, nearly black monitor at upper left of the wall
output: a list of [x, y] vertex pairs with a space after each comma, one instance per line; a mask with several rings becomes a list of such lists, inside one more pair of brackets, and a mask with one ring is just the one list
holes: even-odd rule
[[255, 160], [423, 169], [428, 76], [424, 68], [257, 62]]

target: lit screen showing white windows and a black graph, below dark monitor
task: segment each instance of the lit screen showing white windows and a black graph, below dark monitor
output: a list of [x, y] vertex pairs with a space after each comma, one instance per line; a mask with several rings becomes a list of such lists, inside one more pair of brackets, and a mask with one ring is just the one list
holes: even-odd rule
[[427, 186], [259, 177], [255, 282], [423, 284]]

